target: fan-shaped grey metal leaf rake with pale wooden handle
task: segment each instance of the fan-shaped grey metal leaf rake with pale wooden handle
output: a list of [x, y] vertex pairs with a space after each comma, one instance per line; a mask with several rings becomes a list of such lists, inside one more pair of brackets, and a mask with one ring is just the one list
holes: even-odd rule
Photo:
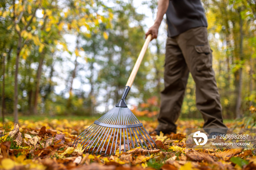
[[118, 150], [120, 154], [121, 150], [125, 152], [130, 150], [131, 147], [139, 146], [143, 149], [154, 149], [150, 140], [157, 148], [143, 124], [140, 123], [125, 102], [150, 40], [151, 35], [148, 35], [127, 81], [121, 100], [116, 104], [116, 107], [105, 113], [98, 120], [95, 120], [75, 139], [72, 146], [76, 147], [80, 143], [83, 148], [85, 147], [85, 152], [96, 155], [98, 153], [101, 155], [102, 151], [105, 151], [105, 155], [116, 154]]

